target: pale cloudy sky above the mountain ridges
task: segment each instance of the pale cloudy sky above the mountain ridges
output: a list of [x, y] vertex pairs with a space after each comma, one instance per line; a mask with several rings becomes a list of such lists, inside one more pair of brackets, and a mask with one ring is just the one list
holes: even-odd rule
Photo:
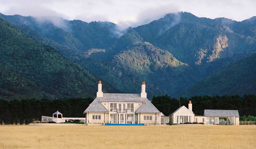
[[0, 0], [6, 15], [60, 16], [136, 27], [178, 11], [242, 21], [256, 15], [256, 0]]

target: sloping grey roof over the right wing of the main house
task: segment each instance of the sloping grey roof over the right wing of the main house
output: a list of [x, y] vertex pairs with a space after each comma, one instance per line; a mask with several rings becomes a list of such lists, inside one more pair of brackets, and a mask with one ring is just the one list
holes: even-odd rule
[[160, 113], [160, 111], [147, 99], [144, 98], [143, 103], [135, 113]]

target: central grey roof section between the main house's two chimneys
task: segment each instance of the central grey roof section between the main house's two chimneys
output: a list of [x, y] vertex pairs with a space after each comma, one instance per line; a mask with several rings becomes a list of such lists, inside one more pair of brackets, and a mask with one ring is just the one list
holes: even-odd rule
[[99, 102], [145, 102], [146, 98], [141, 98], [140, 94], [112, 94], [103, 93]]

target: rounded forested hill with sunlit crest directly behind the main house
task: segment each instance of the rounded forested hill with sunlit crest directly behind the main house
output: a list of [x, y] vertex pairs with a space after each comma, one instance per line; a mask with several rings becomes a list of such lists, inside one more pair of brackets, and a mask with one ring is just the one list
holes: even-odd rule
[[89, 57], [79, 64], [126, 93], [140, 93], [141, 80], [145, 80], [149, 99], [166, 93], [178, 95], [198, 80], [191, 67], [148, 42], [120, 51], [111, 61]]

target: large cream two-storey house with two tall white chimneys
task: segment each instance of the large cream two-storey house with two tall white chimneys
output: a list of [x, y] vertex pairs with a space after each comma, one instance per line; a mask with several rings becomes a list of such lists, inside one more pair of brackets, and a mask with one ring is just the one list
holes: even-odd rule
[[86, 123], [161, 124], [160, 111], [146, 98], [145, 82], [141, 94], [103, 93], [98, 83], [97, 97], [84, 111]]

